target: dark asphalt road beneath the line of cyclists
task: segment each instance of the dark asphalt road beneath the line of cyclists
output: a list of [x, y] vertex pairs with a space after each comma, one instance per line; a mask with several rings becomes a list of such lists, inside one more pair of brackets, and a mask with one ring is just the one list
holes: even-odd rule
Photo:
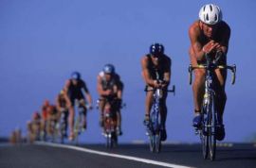
[[218, 146], [214, 161], [203, 160], [200, 144], [164, 144], [159, 154], [151, 153], [146, 144], [120, 144], [114, 149], [106, 149], [103, 144], [56, 145], [0, 145], [0, 168], [164, 167], [158, 163], [167, 163], [169, 167], [256, 167], [256, 146], [252, 143]]

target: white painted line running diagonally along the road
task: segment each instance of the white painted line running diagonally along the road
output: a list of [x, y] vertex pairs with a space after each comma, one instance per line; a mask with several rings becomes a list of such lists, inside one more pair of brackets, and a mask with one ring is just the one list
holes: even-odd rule
[[165, 166], [165, 167], [172, 167], [172, 168], [192, 168], [192, 167], [178, 165], [178, 164], [172, 164], [172, 163], [168, 163], [168, 162], [146, 160], [146, 159], [130, 157], [130, 156], [125, 156], [125, 155], [118, 155], [118, 154], [110, 154], [110, 153], [106, 153], [106, 152], [86, 149], [86, 148], [67, 145], [67, 144], [41, 143], [41, 142], [37, 142], [36, 144], [47, 145], [47, 146], [52, 146], [52, 147], [62, 147], [62, 148], [73, 149], [73, 150], [82, 151], [82, 152], [86, 152], [86, 153], [97, 154], [97, 155], [106, 156], [106, 157], [114, 157], [114, 158], [119, 158], [119, 159], [124, 159], [124, 160], [135, 160], [135, 161], [144, 162], [144, 163], [148, 163], [148, 164], [154, 164], [154, 165], [158, 165], [158, 166]]

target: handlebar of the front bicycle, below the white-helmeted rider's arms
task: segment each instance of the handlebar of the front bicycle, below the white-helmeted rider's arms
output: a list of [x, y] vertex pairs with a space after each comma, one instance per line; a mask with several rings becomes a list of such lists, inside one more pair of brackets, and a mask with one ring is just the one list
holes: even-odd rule
[[233, 85], [235, 83], [235, 78], [236, 78], [236, 65], [211, 65], [210, 67], [208, 67], [206, 64], [199, 64], [197, 66], [192, 66], [192, 64], [190, 64], [189, 66], [189, 73], [190, 73], [190, 85], [192, 84], [192, 71], [194, 69], [228, 69], [232, 72], [232, 79], [231, 79], [231, 84]]

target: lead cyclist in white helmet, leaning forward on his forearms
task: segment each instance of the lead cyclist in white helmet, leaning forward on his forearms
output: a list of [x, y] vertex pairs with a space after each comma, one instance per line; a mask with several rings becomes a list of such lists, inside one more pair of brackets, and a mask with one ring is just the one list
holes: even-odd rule
[[[206, 54], [211, 59], [216, 56], [216, 53], [221, 53], [219, 64], [227, 63], [227, 53], [229, 48], [230, 28], [229, 25], [222, 20], [221, 9], [213, 4], [203, 6], [199, 11], [199, 20], [195, 21], [189, 28], [189, 36], [191, 40], [190, 59], [192, 66], [204, 63]], [[194, 118], [193, 126], [201, 124], [201, 104], [204, 95], [204, 80], [205, 70], [195, 69], [195, 79], [192, 84], [193, 101], [194, 101]], [[216, 83], [214, 84], [216, 92], [216, 110], [220, 114], [219, 123], [221, 124], [217, 130], [217, 140], [221, 141], [225, 138], [225, 129], [223, 125], [223, 112], [227, 100], [225, 92], [225, 83], [227, 70], [215, 70]]]

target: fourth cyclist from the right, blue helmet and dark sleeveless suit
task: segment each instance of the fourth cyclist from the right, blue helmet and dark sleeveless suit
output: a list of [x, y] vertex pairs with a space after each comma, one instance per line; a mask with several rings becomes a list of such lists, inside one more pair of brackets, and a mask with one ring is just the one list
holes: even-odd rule
[[65, 82], [64, 91], [66, 91], [69, 101], [71, 102], [71, 106], [69, 108], [69, 126], [70, 126], [70, 135], [69, 140], [74, 139], [74, 116], [75, 116], [75, 102], [78, 101], [79, 107], [83, 109], [83, 129], [86, 129], [86, 102], [83, 95], [85, 93], [85, 97], [88, 103], [88, 108], [92, 109], [92, 97], [90, 92], [88, 91], [85, 82], [81, 78], [81, 74], [79, 72], [74, 72], [71, 75], [71, 78]]

